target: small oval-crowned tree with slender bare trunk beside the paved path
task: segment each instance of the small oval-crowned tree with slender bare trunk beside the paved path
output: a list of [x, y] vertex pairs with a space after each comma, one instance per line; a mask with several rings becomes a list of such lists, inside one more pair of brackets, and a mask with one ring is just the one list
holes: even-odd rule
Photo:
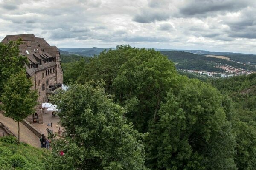
[[20, 142], [20, 121], [34, 113], [38, 104], [38, 95], [35, 90], [31, 90], [32, 85], [31, 80], [22, 70], [11, 75], [3, 87], [1, 108], [5, 111], [5, 116], [18, 122], [18, 142]]

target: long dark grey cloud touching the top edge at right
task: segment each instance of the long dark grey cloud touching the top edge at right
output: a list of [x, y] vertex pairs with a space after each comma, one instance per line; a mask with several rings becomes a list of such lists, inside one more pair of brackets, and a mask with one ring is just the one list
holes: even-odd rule
[[215, 11], [239, 11], [253, 4], [253, 0], [186, 0], [180, 13], [188, 16]]

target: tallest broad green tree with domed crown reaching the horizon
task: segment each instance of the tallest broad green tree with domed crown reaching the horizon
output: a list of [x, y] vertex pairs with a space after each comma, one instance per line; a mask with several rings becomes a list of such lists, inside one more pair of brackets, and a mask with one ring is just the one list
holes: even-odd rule
[[[125, 116], [140, 132], [148, 131], [148, 121], [157, 120], [166, 91], [177, 91], [186, 78], [178, 76], [175, 65], [154, 49], [119, 45], [93, 58], [78, 82], [104, 79], [114, 102], [128, 110]], [[75, 77], [75, 76], [74, 76]]]

